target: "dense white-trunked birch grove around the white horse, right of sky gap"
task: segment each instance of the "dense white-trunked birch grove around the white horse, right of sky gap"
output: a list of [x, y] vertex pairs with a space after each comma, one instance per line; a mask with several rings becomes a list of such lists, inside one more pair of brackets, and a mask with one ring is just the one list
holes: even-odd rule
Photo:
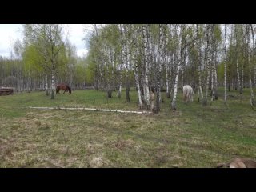
[[[189, 84], [198, 102], [218, 99], [218, 86], [226, 91], [250, 88], [254, 105], [256, 85], [255, 26], [252, 24], [114, 24], [94, 25], [89, 62], [96, 89], [121, 95], [126, 87], [138, 90], [138, 107], [150, 109], [150, 93], [156, 95], [155, 112], [161, 104], [161, 90], [176, 109], [178, 88]], [[90, 69], [91, 69], [90, 68]], [[208, 98], [208, 95], [211, 95]]]

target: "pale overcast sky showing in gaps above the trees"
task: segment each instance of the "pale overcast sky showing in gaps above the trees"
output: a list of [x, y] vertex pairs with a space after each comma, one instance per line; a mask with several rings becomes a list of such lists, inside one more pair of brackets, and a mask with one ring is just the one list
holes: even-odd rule
[[[69, 39], [77, 48], [79, 57], [86, 55], [86, 42], [82, 40], [90, 32], [91, 25], [86, 24], [65, 24], [64, 29], [69, 31]], [[10, 57], [10, 51], [14, 42], [22, 40], [22, 24], [0, 24], [0, 56]]]

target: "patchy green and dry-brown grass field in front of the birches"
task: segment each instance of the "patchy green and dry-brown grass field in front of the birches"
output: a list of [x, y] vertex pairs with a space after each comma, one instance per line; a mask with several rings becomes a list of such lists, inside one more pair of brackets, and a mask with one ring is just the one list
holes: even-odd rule
[[[256, 90], [254, 90], [256, 91]], [[138, 110], [137, 93], [107, 99], [96, 90], [74, 90], [54, 100], [44, 92], [0, 97], [0, 167], [214, 167], [231, 158], [256, 158], [256, 111], [236, 91], [203, 107], [170, 99], [160, 114], [34, 110], [29, 106]], [[196, 97], [194, 97], [194, 100]], [[210, 99], [209, 99], [210, 100]]]

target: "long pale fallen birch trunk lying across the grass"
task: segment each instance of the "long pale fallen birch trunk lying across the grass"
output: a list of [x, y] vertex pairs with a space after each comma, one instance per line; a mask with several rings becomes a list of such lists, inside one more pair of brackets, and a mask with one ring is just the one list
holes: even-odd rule
[[30, 106], [30, 109], [37, 110], [94, 110], [94, 111], [105, 111], [105, 112], [117, 112], [117, 113], [130, 113], [130, 114], [152, 114], [150, 111], [133, 111], [133, 110], [104, 110], [97, 108], [86, 108], [86, 107], [78, 107], [78, 108], [70, 108], [70, 107], [40, 107], [40, 106]]

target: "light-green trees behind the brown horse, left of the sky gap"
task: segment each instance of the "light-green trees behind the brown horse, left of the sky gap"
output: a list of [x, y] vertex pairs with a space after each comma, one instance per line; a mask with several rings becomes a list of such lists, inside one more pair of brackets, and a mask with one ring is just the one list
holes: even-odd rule
[[10, 58], [0, 56], [0, 85], [17, 91], [45, 90], [54, 98], [58, 82], [81, 89], [89, 82], [86, 58], [78, 58], [76, 47], [64, 37], [62, 25], [23, 25], [23, 41], [14, 42]]

